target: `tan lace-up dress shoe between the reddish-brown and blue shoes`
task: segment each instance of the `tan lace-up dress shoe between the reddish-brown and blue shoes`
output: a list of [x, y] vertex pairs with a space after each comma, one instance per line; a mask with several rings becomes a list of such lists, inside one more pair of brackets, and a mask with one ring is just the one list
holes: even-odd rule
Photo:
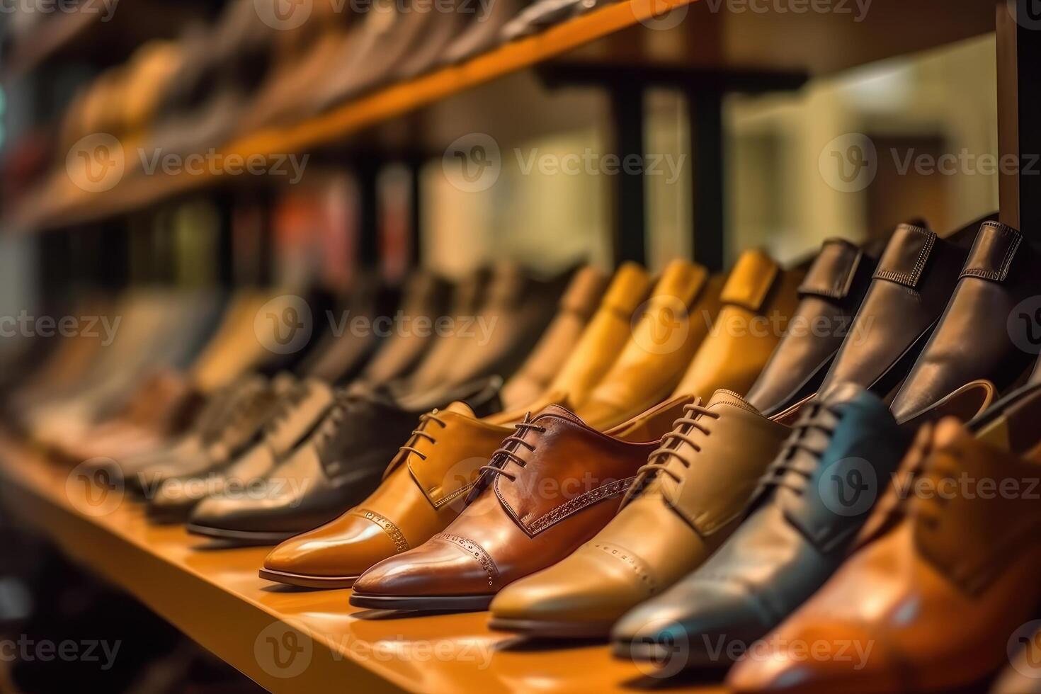
[[572, 556], [501, 591], [492, 627], [607, 637], [626, 612], [696, 568], [733, 533], [789, 430], [727, 390], [687, 410], [618, 515]]

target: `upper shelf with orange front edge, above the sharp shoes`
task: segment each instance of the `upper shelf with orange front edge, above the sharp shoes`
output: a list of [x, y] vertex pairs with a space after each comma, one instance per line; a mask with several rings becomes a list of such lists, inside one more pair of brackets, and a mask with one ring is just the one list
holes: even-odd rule
[[[675, 11], [657, 23], [654, 18], [669, 9]], [[466, 95], [478, 85], [543, 63], [552, 70], [550, 61], [560, 56], [607, 70], [697, 71], [702, 78], [706, 72], [742, 71], [828, 75], [992, 31], [994, 12], [994, 3], [980, 0], [625, 0], [294, 126], [247, 133], [219, 154], [304, 152], [425, 109], [452, 103], [464, 107]], [[493, 101], [485, 100], [482, 108], [493, 111]], [[146, 176], [128, 170], [115, 188], [88, 192], [72, 182], [62, 165], [3, 227], [33, 230], [97, 221], [215, 178], [220, 176], [209, 172]]]

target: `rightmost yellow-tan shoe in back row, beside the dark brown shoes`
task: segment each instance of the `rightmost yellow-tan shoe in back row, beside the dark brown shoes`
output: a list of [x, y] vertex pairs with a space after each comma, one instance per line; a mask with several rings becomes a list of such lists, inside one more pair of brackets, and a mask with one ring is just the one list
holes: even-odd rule
[[802, 281], [802, 273], [782, 269], [762, 251], [742, 253], [723, 285], [722, 307], [674, 394], [747, 392], [798, 308]]

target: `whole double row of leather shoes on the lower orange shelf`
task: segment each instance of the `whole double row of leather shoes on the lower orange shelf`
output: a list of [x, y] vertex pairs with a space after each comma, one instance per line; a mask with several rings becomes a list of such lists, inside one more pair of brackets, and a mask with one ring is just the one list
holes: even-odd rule
[[[980, 688], [1010, 657], [996, 691], [1037, 691], [1039, 271], [985, 219], [794, 267], [416, 275], [396, 325], [494, 327], [316, 336], [293, 363], [263, 358], [260, 299], [191, 359], [170, 309], [37, 357], [8, 419], [115, 459], [90, 464], [153, 521], [277, 545], [262, 577], [355, 607], [488, 610], [737, 692]], [[155, 354], [179, 388], [144, 378]]]

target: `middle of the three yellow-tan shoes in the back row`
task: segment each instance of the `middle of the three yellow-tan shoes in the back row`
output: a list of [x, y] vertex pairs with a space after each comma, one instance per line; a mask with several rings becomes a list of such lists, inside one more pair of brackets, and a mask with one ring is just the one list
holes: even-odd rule
[[709, 280], [701, 265], [670, 262], [635, 316], [617, 361], [576, 414], [603, 430], [668, 397], [719, 310], [721, 285], [721, 280]]

